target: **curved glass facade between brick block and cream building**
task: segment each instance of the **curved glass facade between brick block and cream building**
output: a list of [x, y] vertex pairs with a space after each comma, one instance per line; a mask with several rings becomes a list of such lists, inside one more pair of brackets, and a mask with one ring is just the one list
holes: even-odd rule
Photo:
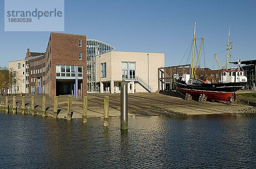
[[99, 93], [99, 84], [96, 83], [96, 56], [115, 49], [105, 42], [87, 39], [87, 92]]

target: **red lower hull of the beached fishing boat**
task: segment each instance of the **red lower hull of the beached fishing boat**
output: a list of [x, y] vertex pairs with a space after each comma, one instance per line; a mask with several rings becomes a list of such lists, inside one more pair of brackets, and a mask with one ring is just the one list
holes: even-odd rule
[[191, 89], [182, 89], [182, 88], [177, 88], [177, 90], [183, 95], [186, 95], [186, 93], [189, 93], [192, 97], [199, 97], [201, 94], [204, 94], [205, 96], [207, 96], [207, 100], [215, 100], [215, 101], [230, 101], [230, 98], [232, 97], [232, 95], [233, 94], [236, 95], [236, 93], [233, 93], [233, 92], [191, 90]]

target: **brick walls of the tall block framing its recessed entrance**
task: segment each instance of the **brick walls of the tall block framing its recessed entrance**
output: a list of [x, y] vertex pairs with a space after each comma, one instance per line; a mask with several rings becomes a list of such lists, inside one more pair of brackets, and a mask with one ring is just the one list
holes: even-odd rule
[[[79, 47], [81, 39], [81, 47]], [[86, 36], [75, 34], [51, 33], [46, 51], [46, 90], [51, 98], [56, 96], [56, 65], [83, 67], [82, 94], [86, 96]], [[79, 52], [82, 59], [79, 60]]]

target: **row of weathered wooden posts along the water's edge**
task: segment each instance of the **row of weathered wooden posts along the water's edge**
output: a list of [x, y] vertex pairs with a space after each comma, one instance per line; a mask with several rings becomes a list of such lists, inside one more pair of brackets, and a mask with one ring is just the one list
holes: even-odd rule
[[[67, 120], [70, 121], [71, 120], [71, 107], [72, 107], [72, 97], [73, 96], [68, 96], [67, 99]], [[22, 103], [20, 108], [17, 108], [17, 104], [16, 104], [16, 96], [13, 96], [13, 104], [12, 104], [12, 113], [17, 113], [17, 109], [20, 110], [21, 113], [25, 114], [26, 113], [26, 106], [25, 106], [25, 96], [22, 96]], [[6, 113], [9, 113], [9, 99], [8, 96], [6, 96], [6, 101], [5, 101], [5, 111]], [[3, 105], [1, 105], [2, 107]], [[87, 96], [84, 96], [83, 98], [83, 115], [82, 115], [82, 121], [83, 123], [87, 123], [87, 110], [88, 110], [88, 98]], [[36, 114], [35, 111], [35, 96], [31, 96], [31, 105], [28, 107], [29, 114]], [[109, 98], [108, 96], [104, 97], [104, 126], [107, 127], [108, 126], [108, 116], [109, 116]], [[40, 111], [39, 111], [40, 112]], [[43, 102], [42, 102], [42, 111], [41, 113], [42, 116], [48, 116], [49, 113], [46, 113], [46, 96], [43, 96]], [[54, 97], [54, 108], [53, 108], [53, 117], [57, 118], [58, 116], [58, 96]]]

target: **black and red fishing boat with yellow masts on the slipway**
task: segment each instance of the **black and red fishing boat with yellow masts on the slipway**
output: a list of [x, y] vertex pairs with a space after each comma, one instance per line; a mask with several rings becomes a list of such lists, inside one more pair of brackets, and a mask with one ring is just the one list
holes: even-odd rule
[[214, 80], [214, 78], [211, 76], [205, 76], [200, 79], [195, 77], [198, 58], [201, 52], [204, 37], [201, 41], [200, 50], [194, 68], [195, 40], [196, 38], [194, 29], [191, 74], [183, 74], [183, 76], [178, 74], [173, 75], [177, 91], [183, 95], [189, 94], [190, 96], [197, 98], [204, 94], [207, 96], [207, 100], [209, 101], [224, 101], [227, 103], [236, 101], [236, 91], [247, 84], [247, 77], [244, 76], [244, 70], [242, 70], [240, 66], [241, 60], [238, 60], [237, 68], [228, 69], [228, 58], [230, 57], [229, 51], [232, 49], [232, 42], [230, 42], [230, 30], [228, 33], [227, 42], [226, 69], [221, 69], [218, 59], [216, 55], [214, 55], [221, 72], [221, 78], [218, 81]]

